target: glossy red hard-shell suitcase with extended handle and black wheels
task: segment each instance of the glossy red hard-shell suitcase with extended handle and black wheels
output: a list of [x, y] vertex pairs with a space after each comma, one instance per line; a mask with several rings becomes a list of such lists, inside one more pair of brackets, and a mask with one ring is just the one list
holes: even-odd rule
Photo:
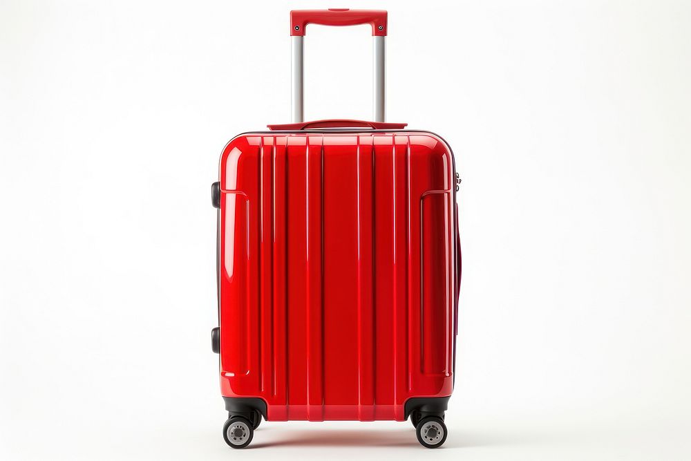
[[[375, 120], [302, 122], [307, 23], [372, 24]], [[384, 120], [386, 11], [291, 12], [293, 121], [233, 138], [218, 207], [225, 441], [264, 417], [397, 420], [446, 439], [460, 284], [448, 144]]]

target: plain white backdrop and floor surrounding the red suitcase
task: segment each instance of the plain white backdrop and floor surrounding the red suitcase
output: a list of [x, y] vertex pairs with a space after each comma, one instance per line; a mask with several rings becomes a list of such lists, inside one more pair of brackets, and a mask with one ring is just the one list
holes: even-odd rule
[[[387, 8], [388, 120], [463, 178], [450, 431], [265, 422], [231, 451], [209, 185], [289, 122], [291, 8]], [[0, 458], [691, 458], [691, 4], [0, 3]], [[367, 26], [305, 116], [370, 118]]]

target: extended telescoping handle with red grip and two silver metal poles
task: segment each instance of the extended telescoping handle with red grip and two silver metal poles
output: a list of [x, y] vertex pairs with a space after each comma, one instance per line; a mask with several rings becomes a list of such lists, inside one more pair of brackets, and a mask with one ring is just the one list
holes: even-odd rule
[[290, 12], [290, 39], [292, 42], [292, 89], [291, 89], [291, 120], [293, 123], [304, 121], [303, 111], [303, 37], [307, 24], [322, 24], [324, 26], [354, 26], [356, 24], [371, 24], [372, 39], [374, 41], [374, 79], [372, 80], [372, 96], [374, 100], [374, 120], [384, 122], [386, 118], [385, 106], [385, 74], [386, 74], [386, 10], [349, 10], [348, 8], [332, 8], [330, 10], [293, 10]]

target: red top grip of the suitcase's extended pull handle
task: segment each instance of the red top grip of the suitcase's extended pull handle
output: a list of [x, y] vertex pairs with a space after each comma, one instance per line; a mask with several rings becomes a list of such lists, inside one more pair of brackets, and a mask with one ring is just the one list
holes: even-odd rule
[[323, 26], [370, 24], [372, 35], [386, 35], [386, 17], [386, 10], [349, 10], [348, 8], [292, 10], [290, 35], [305, 35], [307, 24], [322, 24]]

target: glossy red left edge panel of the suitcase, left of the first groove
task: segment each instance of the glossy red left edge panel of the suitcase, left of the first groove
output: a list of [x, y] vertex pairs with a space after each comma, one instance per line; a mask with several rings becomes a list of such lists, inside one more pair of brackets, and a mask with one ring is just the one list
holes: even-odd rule
[[[254, 146], [251, 138], [235, 141], [227, 146], [220, 175], [220, 367], [222, 384], [233, 382], [243, 395], [257, 393], [262, 385], [261, 353], [257, 353], [263, 344], [256, 180], [260, 146]], [[247, 155], [248, 151], [254, 154]], [[249, 180], [250, 176], [254, 178]]]

